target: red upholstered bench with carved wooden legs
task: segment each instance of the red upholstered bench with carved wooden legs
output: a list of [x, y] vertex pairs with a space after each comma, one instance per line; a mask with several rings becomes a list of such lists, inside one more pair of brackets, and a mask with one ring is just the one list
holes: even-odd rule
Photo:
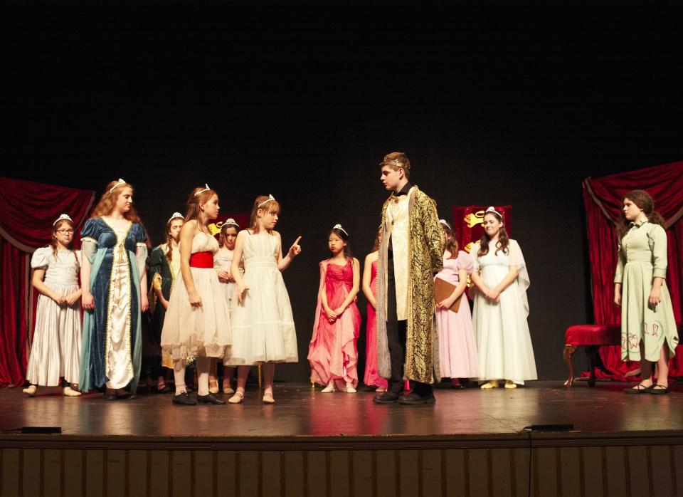
[[603, 365], [598, 350], [601, 345], [621, 345], [621, 325], [576, 325], [567, 328], [564, 334], [564, 352], [562, 357], [569, 370], [569, 377], [564, 386], [571, 388], [574, 384], [574, 365], [571, 356], [576, 352], [576, 347], [583, 345], [586, 349], [588, 368], [591, 376], [588, 377], [588, 385], [595, 386], [595, 367], [609, 373]]

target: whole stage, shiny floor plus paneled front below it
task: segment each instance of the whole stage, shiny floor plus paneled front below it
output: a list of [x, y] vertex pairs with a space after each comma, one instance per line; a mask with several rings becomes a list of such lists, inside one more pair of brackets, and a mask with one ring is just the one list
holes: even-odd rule
[[[444, 385], [445, 386], [445, 385]], [[530, 382], [436, 390], [431, 406], [276, 383], [243, 404], [171, 394], [106, 402], [1, 389], [2, 495], [672, 496], [683, 492], [683, 387]], [[525, 431], [573, 424], [573, 431]], [[21, 434], [21, 427], [62, 434]], [[531, 449], [530, 449], [531, 447]]]

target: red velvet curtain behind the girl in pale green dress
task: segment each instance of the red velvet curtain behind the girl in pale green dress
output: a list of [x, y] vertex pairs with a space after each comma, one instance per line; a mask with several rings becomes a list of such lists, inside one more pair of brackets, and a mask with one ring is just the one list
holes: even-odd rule
[[[621, 320], [621, 311], [613, 303], [613, 281], [617, 265], [614, 227], [621, 215], [623, 195], [633, 189], [644, 189], [650, 193], [655, 199], [655, 209], [666, 221], [669, 261], [667, 286], [671, 293], [674, 315], [677, 322], [680, 322], [683, 300], [683, 162], [673, 162], [602, 178], [588, 178], [583, 182], [595, 323], [620, 323]], [[598, 377], [625, 380], [625, 373], [638, 367], [637, 363], [621, 360], [619, 346], [600, 347], [600, 356], [614, 375], [597, 371]], [[669, 375], [683, 376], [681, 346], [672, 359]]]

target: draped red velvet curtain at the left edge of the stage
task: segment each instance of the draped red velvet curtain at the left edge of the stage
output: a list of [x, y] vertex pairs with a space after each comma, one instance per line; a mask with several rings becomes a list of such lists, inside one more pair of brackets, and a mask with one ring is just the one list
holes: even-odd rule
[[0, 387], [23, 384], [33, 333], [31, 253], [50, 243], [52, 226], [69, 214], [88, 219], [95, 192], [0, 177]]

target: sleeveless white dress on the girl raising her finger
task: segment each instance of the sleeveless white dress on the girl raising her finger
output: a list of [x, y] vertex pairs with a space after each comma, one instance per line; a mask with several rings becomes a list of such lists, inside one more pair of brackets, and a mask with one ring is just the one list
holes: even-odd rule
[[276, 236], [245, 236], [243, 278], [249, 289], [233, 313], [233, 347], [225, 365], [299, 361], [292, 305], [277, 268], [279, 251]]

